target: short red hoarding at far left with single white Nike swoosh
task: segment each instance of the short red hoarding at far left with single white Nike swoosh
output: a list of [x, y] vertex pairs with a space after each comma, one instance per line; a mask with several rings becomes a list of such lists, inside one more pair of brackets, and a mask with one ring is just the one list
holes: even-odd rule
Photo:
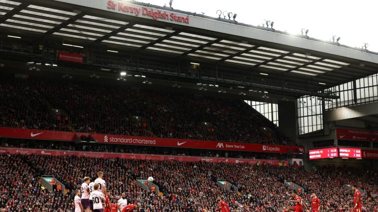
[[0, 128], [1, 137], [26, 138], [38, 140], [75, 141], [75, 132]]

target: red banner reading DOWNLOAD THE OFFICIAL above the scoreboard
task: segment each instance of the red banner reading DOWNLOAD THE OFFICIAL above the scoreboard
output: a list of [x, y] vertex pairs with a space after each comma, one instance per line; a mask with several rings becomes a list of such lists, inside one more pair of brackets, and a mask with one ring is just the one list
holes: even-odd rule
[[377, 131], [337, 128], [336, 136], [337, 136], [337, 139], [343, 139], [343, 140], [378, 141]]

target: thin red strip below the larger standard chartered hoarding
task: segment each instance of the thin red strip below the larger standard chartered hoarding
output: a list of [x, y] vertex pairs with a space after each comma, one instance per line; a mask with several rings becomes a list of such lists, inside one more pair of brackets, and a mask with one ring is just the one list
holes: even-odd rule
[[[42, 149], [15, 149], [0, 148], [0, 154], [21, 154], [21, 155], [48, 155], [48, 156], [77, 156], [92, 158], [121, 158], [121, 159], [144, 159], [144, 160], [178, 160], [186, 162], [225, 162], [225, 163], [247, 163], [247, 164], [271, 164], [278, 165], [282, 160], [266, 160], [266, 159], [231, 159], [231, 158], [206, 158], [206, 157], [189, 157], [189, 156], [163, 156], [163, 155], [142, 155], [142, 154], [117, 154], [103, 152], [79, 152], [79, 151], [56, 151]], [[287, 161], [284, 161], [287, 164]]]

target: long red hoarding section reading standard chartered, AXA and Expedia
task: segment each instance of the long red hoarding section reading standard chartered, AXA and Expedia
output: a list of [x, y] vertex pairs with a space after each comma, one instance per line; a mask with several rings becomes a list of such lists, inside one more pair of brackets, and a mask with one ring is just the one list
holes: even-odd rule
[[267, 153], [287, 153], [288, 149], [290, 149], [292, 152], [297, 153], [297, 147], [295, 146], [277, 146], [277, 145], [186, 140], [186, 139], [156, 138], [156, 137], [152, 138], [152, 137], [137, 137], [137, 136], [110, 135], [110, 134], [91, 134], [91, 136], [98, 143], [176, 147], [176, 148], [194, 148], [194, 149], [232, 150], [232, 151], [248, 151], [248, 152], [267, 152]]

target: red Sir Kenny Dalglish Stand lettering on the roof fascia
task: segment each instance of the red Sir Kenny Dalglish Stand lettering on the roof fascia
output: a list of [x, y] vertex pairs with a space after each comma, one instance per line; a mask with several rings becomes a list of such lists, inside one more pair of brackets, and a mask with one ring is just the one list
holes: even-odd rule
[[150, 7], [138, 8], [135, 6], [130, 6], [130, 4], [126, 4], [125, 2], [114, 0], [108, 0], [106, 4], [108, 9], [127, 12], [135, 16], [151, 16], [154, 20], [164, 19], [189, 24], [189, 16], [180, 16], [174, 12], [167, 13], [166, 11], [153, 9]]

